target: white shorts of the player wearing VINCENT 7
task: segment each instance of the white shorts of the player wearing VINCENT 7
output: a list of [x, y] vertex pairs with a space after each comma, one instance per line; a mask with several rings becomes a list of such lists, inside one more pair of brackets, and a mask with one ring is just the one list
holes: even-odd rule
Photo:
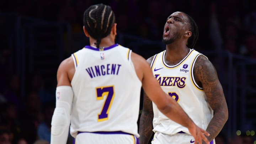
[[139, 140], [123, 132], [81, 132], [76, 135], [75, 144], [139, 144]]

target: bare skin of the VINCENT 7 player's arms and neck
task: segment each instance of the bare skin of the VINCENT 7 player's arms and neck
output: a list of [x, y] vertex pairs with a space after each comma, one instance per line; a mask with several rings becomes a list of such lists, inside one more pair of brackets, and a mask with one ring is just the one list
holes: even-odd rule
[[[101, 39], [100, 47], [109, 47], [114, 43], [116, 36], [116, 24], [112, 26], [111, 33]], [[92, 38], [84, 28], [84, 33], [87, 37], [90, 38], [90, 45], [96, 47], [96, 39]], [[154, 101], [158, 106], [159, 110], [164, 113], [167, 117], [173, 121], [180, 123], [181, 125], [188, 128], [190, 133], [195, 138], [195, 142], [199, 144], [202, 143], [202, 140], [206, 143], [209, 143], [205, 135], [209, 135], [203, 129], [197, 127], [194, 122], [188, 117], [188, 115], [182, 110], [180, 105], [162, 91], [159, 82], [154, 78], [151, 71], [150, 65], [146, 60], [136, 53], [131, 54], [131, 59], [134, 64], [135, 71], [139, 80], [142, 82], [142, 87], [149, 97], [149, 101]], [[71, 86], [70, 82], [73, 79], [75, 73], [75, 66], [73, 59], [71, 57], [65, 59], [59, 66], [57, 71], [57, 86]]]

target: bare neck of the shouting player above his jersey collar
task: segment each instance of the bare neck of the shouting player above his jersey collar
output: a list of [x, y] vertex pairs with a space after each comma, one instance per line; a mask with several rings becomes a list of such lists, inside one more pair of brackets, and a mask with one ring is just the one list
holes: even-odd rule
[[190, 52], [190, 49], [184, 46], [172, 46], [169, 44], [166, 46], [166, 53], [165, 53], [165, 62], [168, 65], [176, 65], [178, 64], [183, 58], [187, 56]]

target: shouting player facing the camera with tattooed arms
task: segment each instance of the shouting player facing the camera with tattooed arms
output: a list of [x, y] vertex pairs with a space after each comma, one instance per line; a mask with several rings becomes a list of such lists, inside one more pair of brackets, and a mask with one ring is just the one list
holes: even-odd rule
[[[162, 41], [166, 50], [147, 61], [162, 90], [210, 133], [208, 140], [213, 144], [228, 119], [228, 108], [213, 64], [193, 49], [197, 39], [198, 27], [193, 18], [184, 12], [174, 12], [164, 26]], [[155, 133], [152, 144], [197, 144], [189, 130], [159, 111], [146, 92], [140, 117], [140, 142], [148, 144], [152, 132]]]

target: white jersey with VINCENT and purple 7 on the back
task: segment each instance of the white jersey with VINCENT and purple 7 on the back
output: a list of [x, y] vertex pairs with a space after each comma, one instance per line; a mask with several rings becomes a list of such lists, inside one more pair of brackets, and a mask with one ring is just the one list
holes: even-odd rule
[[140, 90], [132, 50], [114, 44], [91, 46], [72, 54], [75, 74], [70, 133], [122, 131], [139, 137]]

